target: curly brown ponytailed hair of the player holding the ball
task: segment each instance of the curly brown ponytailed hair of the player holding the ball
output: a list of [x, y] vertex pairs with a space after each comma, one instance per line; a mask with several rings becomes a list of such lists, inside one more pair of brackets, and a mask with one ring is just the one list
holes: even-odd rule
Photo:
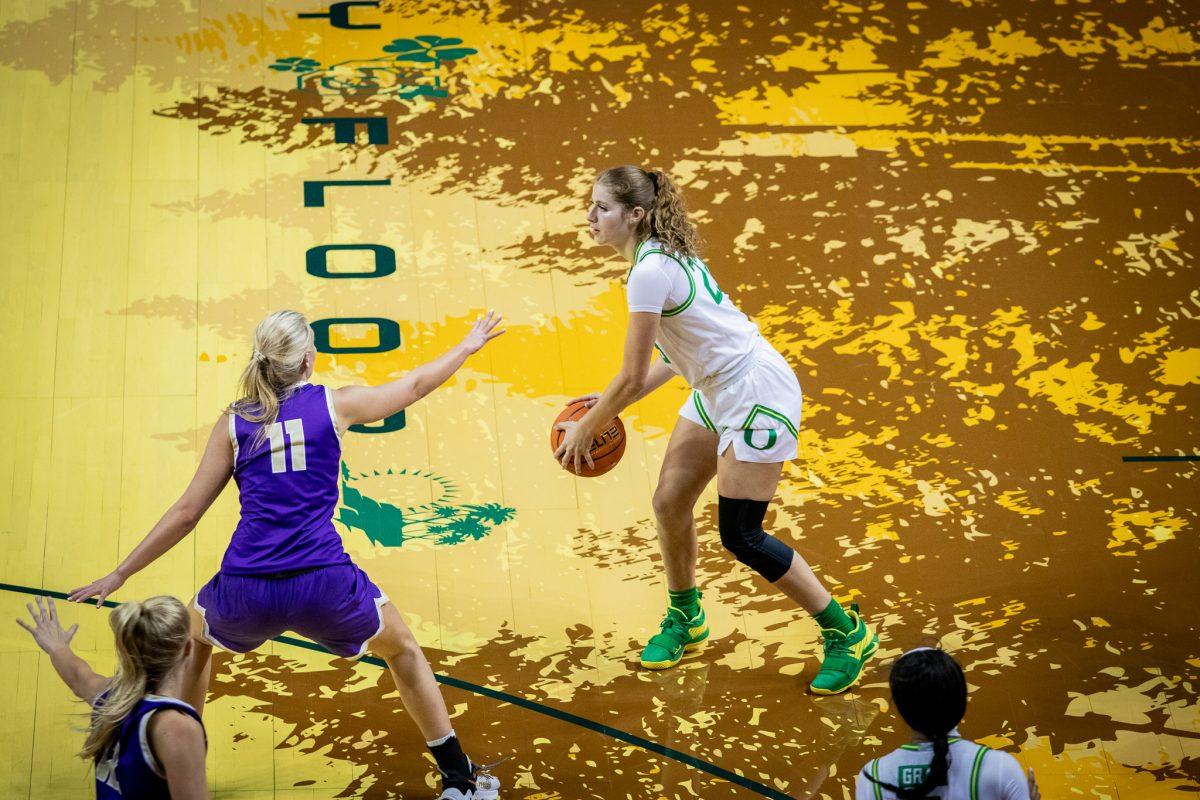
[[700, 234], [688, 219], [683, 193], [661, 169], [649, 172], [625, 164], [612, 167], [596, 176], [625, 209], [642, 207], [646, 216], [637, 223], [638, 241], [656, 237], [668, 253], [684, 259], [700, 257]]

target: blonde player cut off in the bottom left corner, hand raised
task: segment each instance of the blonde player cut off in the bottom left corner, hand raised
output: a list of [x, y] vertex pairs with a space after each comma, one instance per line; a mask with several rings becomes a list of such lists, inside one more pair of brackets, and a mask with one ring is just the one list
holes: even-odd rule
[[79, 757], [96, 769], [97, 800], [208, 800], [208, 744], [199, 712], [182, 699], [194, 644], [187, 608], [174, 597], [121, 603], [108, 616], [116, 674], [106, 678], [71, 650], [78, 625], [64, 630], [54, 601], [26, 603], [17, 620], [50, 657], [54, 672], [91, 706]]

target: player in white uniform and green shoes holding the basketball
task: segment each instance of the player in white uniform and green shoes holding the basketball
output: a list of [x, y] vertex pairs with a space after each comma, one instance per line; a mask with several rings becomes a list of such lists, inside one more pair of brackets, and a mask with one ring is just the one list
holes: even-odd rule
[[[701, 646], [709, 630], [696, 587], [692, 509], [716, 476], [721, 543], [811, 614], [824, 658], [810, 684], [817, 694], [844, 692], [859, 679], [878, 637], [844, 609], [803, 557], [766, 533], [762, 521], [784, 462], [797, 457], [800, 386], [787, 361], [733, 305], [697, 253], [683, 196], [666, 173], [614, 167], [592, 190], [588, 225], [599, 245], [629, 261], [629, 330], [620, 372], [566, 431], [556, 457], [588, 461], [598, 427], [674, 375], [692, 391], [679, 409], [654, 491], [659, 547], [670, 603], [642, 666], [665, 669]], [[653, 360], [658, 349], [661, 359]], [[574, 401], [572, 401], [574, 402]]]

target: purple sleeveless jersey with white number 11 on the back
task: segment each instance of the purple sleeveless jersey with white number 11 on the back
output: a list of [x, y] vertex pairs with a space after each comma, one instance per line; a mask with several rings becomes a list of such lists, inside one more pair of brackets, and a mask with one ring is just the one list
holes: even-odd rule
[[269, 575], [349, 564], [334, 528], [342, 443], [334, 395], [300, 384], [254, 445], [260, 426], [229, 415], [241, 519], [221, 563], [226, 575]]

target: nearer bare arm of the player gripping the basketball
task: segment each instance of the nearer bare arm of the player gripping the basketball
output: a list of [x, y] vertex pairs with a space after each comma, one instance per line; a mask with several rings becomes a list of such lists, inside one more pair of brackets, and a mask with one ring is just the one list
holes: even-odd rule
[[[620, 372], [600, 393], [595, 405], [578, 422], [559, 422], [558, 428], [566, 431], [554, 457], [565, 467], [575, 464], [576, 471], [581, 462], [592, 465], [592, 438], [601, 425], [620, 414], [638, 397], [646, 393], [647, 379], [650, 373], [650, 351], [654, 338], [659, 333], [659, 317], [654, 312], [634, 312], [629, 315], [629, 331], [625, 333], [625, 355], [622, 359]], [[664, 379], [665, 380], [665, 379]]]

